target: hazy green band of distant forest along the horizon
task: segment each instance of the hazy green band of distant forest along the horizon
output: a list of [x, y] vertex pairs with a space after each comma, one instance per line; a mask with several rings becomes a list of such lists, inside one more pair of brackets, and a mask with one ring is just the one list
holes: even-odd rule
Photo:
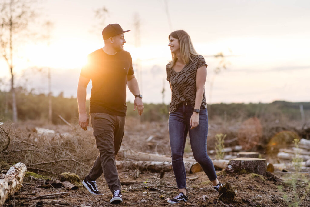
[[[46, 94], [33, 94], [16, 88], [16, 101], [18, 120], [48, 120], [48, 96]], [[86, 103], [89, 111], [89, 101]], [[301, 109], [302, 108], [302, 109]], [[64, 124], [58, 115], [70, 123], [78, 123], [78, 103], [76, 98], [65, 98], [62, 93], [52, 97], [52, 123]], [[302, 117], [303, 111], [304, 116]], [[292, 103], [287, 101], [274, 101], [272, 103], [250, 104], [209, 104], [209, 119], [221, 119], [225, 121], [243, 121], [249, 117], [257, 117], [263, 122], [307, 121], [310, 119], [310, 102]], [[127, 117], [139, 117], [137, 111], [133, 111], [133, 103], [127, 102]], [[169, 116], [169, 105], [144, 103], [144, 114], [141, 121], [162, 121]], [[11, 93], [0, 91], [0, 121], [11, 120]], [[302, 120], [305, 119], [305, 120]]]

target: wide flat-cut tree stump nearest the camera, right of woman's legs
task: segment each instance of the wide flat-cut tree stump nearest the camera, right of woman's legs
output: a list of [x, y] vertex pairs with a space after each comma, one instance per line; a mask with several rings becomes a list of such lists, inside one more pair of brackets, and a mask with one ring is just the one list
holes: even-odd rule
[[266, 159], [238, 157], [231, 159], [224, 171], [228, 173], [256, 173], [266, 175], [267, 163]]

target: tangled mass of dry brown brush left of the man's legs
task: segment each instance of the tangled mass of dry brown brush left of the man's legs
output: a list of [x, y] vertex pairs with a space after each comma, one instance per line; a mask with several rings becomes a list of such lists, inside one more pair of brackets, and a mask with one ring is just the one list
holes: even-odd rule
[[3, 128], [10, 134], [11, 143], [1, 153], [1, 160], [9, 164], [23, 162], [28, 170], [35, 173], [86, 175], [98, 155], [91, 132], [63, 126], [50, 127], [58, 133], [38, 134], [31, 125], [17, 128], [5, 124]]

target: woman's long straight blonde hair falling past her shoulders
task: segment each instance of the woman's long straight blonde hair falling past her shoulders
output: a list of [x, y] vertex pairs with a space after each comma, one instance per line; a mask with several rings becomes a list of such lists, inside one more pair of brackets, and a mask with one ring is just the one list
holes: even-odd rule
[[181, 54], [178, 57], [176, 54], [171, 53], [172, 61], [168, 63], [168, 68], [173, 68], [178, 58], [180, 58], [180, 60], [185, 64], [187, 64], [189, 61], [193, 61], [192, 57], [197, 56], [198, 54], [187, 32], [185, 32], [184, 30], [176, 30], [169, 34], [169, 39], [170, 36], [179, 40]]

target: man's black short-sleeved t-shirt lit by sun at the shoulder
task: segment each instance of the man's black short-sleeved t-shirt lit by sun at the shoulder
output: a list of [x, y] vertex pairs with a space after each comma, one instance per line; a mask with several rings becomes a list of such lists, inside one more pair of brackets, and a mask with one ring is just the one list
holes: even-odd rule
[[81, 75], [91, 78], [89, 113], [126, 116], [127, 75], [134, 74], [131, 55], [127, 51], [108, 55], [102, 49], [88, 55]]

